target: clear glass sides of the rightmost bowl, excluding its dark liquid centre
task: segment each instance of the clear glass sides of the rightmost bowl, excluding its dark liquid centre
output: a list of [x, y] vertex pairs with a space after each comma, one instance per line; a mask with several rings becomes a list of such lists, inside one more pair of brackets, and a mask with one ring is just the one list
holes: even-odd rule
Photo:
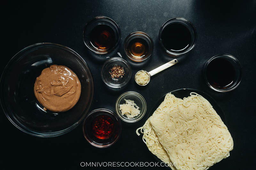
[[[227, 61], [229, 61], [234, 69], [235, 69], [235, 78], [234, 78], [234, 82], [232, 83], [231, 86], [229, 86], [228, 88], [217, 88], [216, 86], [213, 86], [210, 84], [209, 80], [207, 79], [206, 76], [206, 71], [207, 71], [207, 67], [209, 65], [209, 63], [211, 63], [211, 61], [217, 59], [217, 58], [223, 58], [226, 59]], [[225, 74], [225, 73], [224, 73]], [[212, 58], [210, 58], [204, 65], [204, 80], [206, 82], [206, 84], [213, 90], [217, 91], [217, 92], [229, 92], [231, 90], [234, 90], [241, 82], [242, 79], [242, 66], [240, 64], [240, 62], [236, 59], [236, 57], [234, 57], [233, 55], [230, 54], [220, 54], [220, 55], [215, 55]]]

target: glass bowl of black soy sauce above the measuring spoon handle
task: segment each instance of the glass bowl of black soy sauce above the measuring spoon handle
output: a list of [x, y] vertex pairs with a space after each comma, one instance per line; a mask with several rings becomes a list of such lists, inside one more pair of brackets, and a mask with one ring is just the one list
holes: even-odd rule
[[196, 45], [195, 26], [185, 18], [174, 17], [164, 22], [159, 30], [159, 42], [172, 56], [188, 54]]

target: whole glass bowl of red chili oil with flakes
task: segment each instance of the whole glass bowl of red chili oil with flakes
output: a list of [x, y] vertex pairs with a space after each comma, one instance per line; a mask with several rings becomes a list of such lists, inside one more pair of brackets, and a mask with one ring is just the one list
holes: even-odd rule
[[116, 143], [121, 135], [119, 117], [108, 109], [96, 109], [89, 113], [83, 123], [85, 139], [95, 147], [106, 148]]

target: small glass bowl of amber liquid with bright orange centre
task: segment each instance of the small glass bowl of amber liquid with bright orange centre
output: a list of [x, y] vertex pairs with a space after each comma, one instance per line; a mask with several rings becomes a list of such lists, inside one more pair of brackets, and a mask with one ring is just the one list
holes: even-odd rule
[[134, 62], [147, 60], [152, 55], [153, 50], [153, 40], [146, 33], [134, 32], [124, 40], [124, 52]]

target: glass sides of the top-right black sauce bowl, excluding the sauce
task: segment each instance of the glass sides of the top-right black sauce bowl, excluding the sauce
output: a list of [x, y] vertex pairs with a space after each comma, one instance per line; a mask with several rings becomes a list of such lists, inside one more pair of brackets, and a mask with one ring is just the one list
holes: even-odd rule
[[[161, 36], [162, 36], [162, 32], [163, 32], [164, 28], [166, 26], [170, 25], [170, 24], [173, 24], [173, 23], [183, 24], [184, 26], [186, 26], [188, 28], [188, 30], [191, 34], [191, 41], [192, 42], [191, 42], [189, 48], [187, 48], [186, 50], [183, 50], [183, 51], [180, 51], [180, 52], [173, 52], [173, 51], [170, 51], [167, 48], [165, 48], [165, 46], [162, 42]], [[195, 26], [190, 21], [188, 21], [185, 18], [174, 17], [174, 18], [168, 19], [167, 21], [164, 22], [164, 24], [161, 26], [161, 28], [159, 30], [158, 38], [159, 38], [159, 42], [160, 42], [160, 44], [161, 44], [161, 46], [162, 46], [162, 48], [164, 49], [165, 52], [167, 52], [168, 54], [173, 55], [173, 56], [180, 56], [180, 55], [187, 54], [190, 50], [192, 50], [195, 47], [196, 39], [197, 39], [197, 33], [196, 33]]]

